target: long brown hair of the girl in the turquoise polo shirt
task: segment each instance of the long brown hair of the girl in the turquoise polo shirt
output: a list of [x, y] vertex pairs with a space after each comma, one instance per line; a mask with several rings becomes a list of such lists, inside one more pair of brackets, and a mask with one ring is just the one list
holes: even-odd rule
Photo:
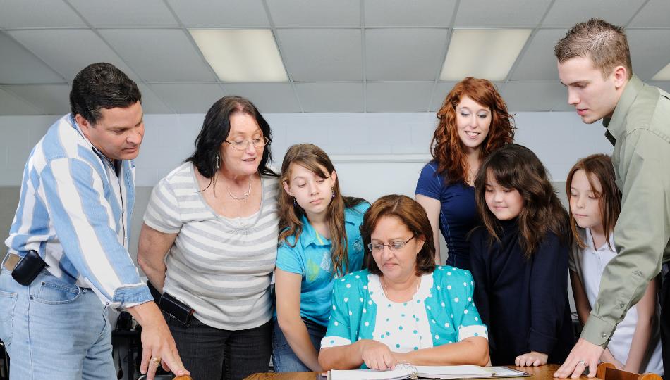
[[[288, 148], [284, 162], [281, 163], [281, 182], [291, 184], [291, 168], [293, 165], [300, 165], [310, 170], [315, 175], [328, 178], [335, 171], [335, 167], [330, 158], [321, 148], [313, 144], [296, 144]], [[342, 196], [340, 184], [336, 179], [333, 185], [334, 198], [331, 199], [326, 209], [326, 220], [330, 232], [332, 244], [331, 249], [331, 267], [333, 276], [343, 276], [349, 271], [348, 239], [344, 226], [344, 210], [352, 208], [355, 205], [365, 202], [362, 198], [353, 198]], [[305, 210], [293, 202], [293, 197], [286, 191], [280, 191], [279, 196], [279, 242], [286, 242], [289, 246], [295, 247], [298, 238], [303, 232], [302, 217]], [[288, 242], [289, 236], [295, 236], [293, 245]]]

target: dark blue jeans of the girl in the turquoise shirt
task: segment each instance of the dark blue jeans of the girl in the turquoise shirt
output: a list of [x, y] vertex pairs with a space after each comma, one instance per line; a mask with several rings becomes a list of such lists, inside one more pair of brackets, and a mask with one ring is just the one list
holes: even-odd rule
[[[321, 350], [321, 339], [326, 335], [326, 327], [310, 319], [303, 318], [307, 333], [310, 334], [310, 340], [317, 349]], [[311, 371], [309, 367], [298, 359], [291, 346], [288, 346], [284, 332], [279, 328], [279, 323], [274, 320], [274, 333], [272, 334], [272, 364], [274, 372], [305, 372]]]

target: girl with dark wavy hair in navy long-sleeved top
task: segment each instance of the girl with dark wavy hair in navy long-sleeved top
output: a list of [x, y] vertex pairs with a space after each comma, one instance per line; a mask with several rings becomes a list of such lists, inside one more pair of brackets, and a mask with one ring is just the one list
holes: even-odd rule
[[544, 165], [508, 144], [482, 163], [470, 239], [475, 303], [493, 365], [561, 363], [574, 343], [568, 305], [568, 213]]

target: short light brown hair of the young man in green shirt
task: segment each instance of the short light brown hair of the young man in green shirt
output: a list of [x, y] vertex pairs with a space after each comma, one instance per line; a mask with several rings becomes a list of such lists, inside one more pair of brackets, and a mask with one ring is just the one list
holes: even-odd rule
[[575, 57], [591, 58], [603, 77], [607, 77], [616, 66], [626, 68], [628, 79], [633, 76], [631, 50], [625, 30], [599, 18], [571, 27], [566, 37], [554, 46], [554, 55], [559, 62]]

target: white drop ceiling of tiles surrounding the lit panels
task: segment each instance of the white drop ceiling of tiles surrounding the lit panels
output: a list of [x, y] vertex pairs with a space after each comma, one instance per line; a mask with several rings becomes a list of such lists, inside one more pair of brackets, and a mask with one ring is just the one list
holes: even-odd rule
[[[7, 37], [22, 45], [25, 51], [20, 62], [27, 63], [25, 67], [32, 67], [37, 73], [41, 72], [37, 77], [44, 79], [36, 79], [33, 75], [30, 79], [35, 83], [1, 80], [3, 70], [16, 72], [17, 61], [10, 68], [0, 58], [0, 88], [13, 94], [15, 99], [28, 102], [30, 108], [49, 112], [59, 102], [48, 99], [47, 95], [55, 94], [47, 91], [44, 95], [47, 99], [42, 99], [47, 103], [40, 105], [37, 102], [42, 100], [32, 96], [30, 88], [24, 90], [10, 84], [62, 84], [63, 79], [59, 77], [69, 83], [83, 65], [92, 61], [110, 61], [138, 81], [142, 90], [154, 93], [145, 96], [147, 100], [152, 99], [147, 103], [154, 105], [147, 104], [150, 112], [152, 109], [159, 112], [168, 109], [179, 113], [179, 110], [193, 109], [193, 103], [181, 99], [192, 94], [182, 93], [181, 97], [172, 96], [169, 102], [164, 100], [163, 90], [174, 89], [179, 84], [192, 89], [197, 87], [195, 84], [219, 84], [223, 94], [233, 91], [249, 96], [257, 94], [259, 100], [263, 98], [260, 103], [268, 105], [265, 108], [274, 112], [281, 112], [284, 107], [284, 112], [296, 112], [296, 103], [299, 104], [298, 112], [328, 110], [329, 105], [333, 106], [334, 112], [389, 112], [393, 109], [385, 110], [384, 104], [414, 108], [418, 99], [427, 104], [423, 110], [433, 110], [441, 103], [439, 98], [444, 96], [439, 92], [453, 86], [453, 83], [444, 84], [438, 80], [444, 63], [441, 53], [446, 55], [452, 27], [533, 28], [508, 80], [499, 84], [500, 90], [504, 91], [508, 84], [514, 84], [516, 89], [526, 88], [524, 83], [528, 88], [542, 87], [545, 82], [557, 84], [553, 44], [575, 20], [592, 15], [615, 24], [628, 23], [633, 67], [643, 80], [650, 80], [669, 61], [664, 51], [670, 51], [666, 43], [670, 41], [666, 38], [670, 34], [670, 22], [660, 18], [659, 14], [667, 13], [670, 6], [665, 0], [631, 0], [619, 7], [608, 8], [607, 1], [497, 0], [493, 7], [487, 0], [414, 0], [410, 2], [411, 6], [404, 0], [343, 0], [337, 5], [329, 0], [147, 0], [139, 6], [131, 0], [117, 1], [110, 6], [99, 6], [102, 2], [62, 0], [35, 7], [32, 2], [4, 0], [0, 14], [0, 25], [4, 29], [0, 32], [6, 36], [0, 36], [0, 42], [2, 37]], [[137, 12], [126, 12], [131, 5]], [[456, 5], [458, 8], [454, 11]], [[42, 17], [45, 12], [48, 15]], [[540, 25], [542, 15], [545, 19]], [[139, 22], [143, 24], [136, 25]], [[288, 84], [279, 85], [221, 83], [193, 39], [188, 38], [188, 27], [270, 28], [280, 46], [288, 75], [294, 77]], [[181, 33], [176, 33], [177, 30]], [[349, 37], [328, 36], [329, 33]], [[168, 34], [174, 37], [167, 37]], [[110, 37], [112, 35], [114, 37]], [[157, 37], [159, 35], [164, 37]], [[185, 39], [184, 35], [187, 36]], [[131, 44], [133, 39], [139, 41], [135, 46]], [[70, 41], [78, 42], [78, 46], [70, 46]], [[309, 43], [305, 44], [305, 41]], [[319, 42], [322, 42], [321, 46]], [[408, 46], [403, 50], [404, 56], [403, 52], [394, 51], [398, 50], [398, 42]], [[307, 49], [310, 45], [312, 49]], [[152, 66], [152, 61], [157, 58], [164, 61], [169, 55], [166, 53], [168, 46], [173, 49], [181, 46], [175, 54], [182, 56], [174, 58], [171, 64]], [[77, 53], [83, 54], [77, 56]], [[138, 58], [142, 53], [143, 60]], [[343, 62], [342, 66], [336, 61], [338, 58]], [[309, 61], [317, 64], [307, 64]], [[408, 67], [412, 70], [407, 70]], [[325, 75], [319, 77], [319, 73]], [[432, 86], [426, 86], [426, 83]], [[171, 86], [154, 90], [158, 84]], [[668, 86], [666, 82], [658, 84]], [[288, 93], [287, 85], [290, 86]], [[427, 92], [421, 94], [420, 89], [424, 88]], [[349, 99], [333, 103], [333, 94], [318, 93], [332, 89]], [[266, 92], [275, 96], [292, 93], [296, 99], [282, 99], [277, 106], [269, 106], [272, 96], [261, 95]], [[312, 99], [303, 99], [301, 94]], [[556, 95], [550, 97], [556, 98]], [[356, 104], [355, 99], [361, 104]], [[300, 105], [303, 100], [308, 103], [305, 109]], [[561, 109], [561, 106], [552, 109]]]

